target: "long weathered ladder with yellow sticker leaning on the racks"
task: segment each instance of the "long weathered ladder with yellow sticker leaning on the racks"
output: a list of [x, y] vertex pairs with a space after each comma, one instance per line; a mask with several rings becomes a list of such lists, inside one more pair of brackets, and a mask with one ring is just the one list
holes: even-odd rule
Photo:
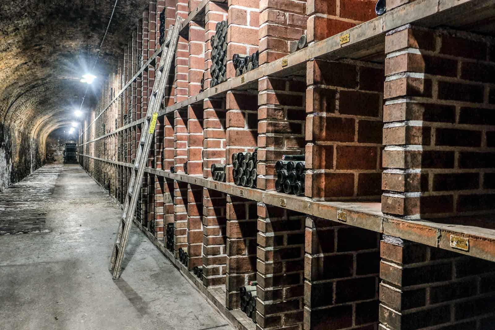
[[158, 117], [158, 111], [160, 110], [163, 94], [165, 93], [165, 86], [168, 82], [168, 75], [172, 65], [172, 60], [174, 58], [175, 48], [177, 47], [177, 42], [179, 39], [179, 31], [183, 20], [184, 19], [182, 17], [177, 16], [175, 25], [170, 26], [167, 30], [165, 43], [162, 46], [162, 57], [158, 65], [158, 69], [156, 70], [153, 92], [149, 98], [146, 120], [143, 123], [141, 140], [139, 142], [136, 160], [132, 168], [132, 177], [127, 190], [122, 216], [120, 217], [119, 229], [117, 231], [117, 236], [115, 237], [115, 243], [113, 244], [110, 265], [108, 266], [108, 269], [113, 271], [114, 280], [120, 277], [127, 239], [129, 238], [129, 233], [131, 232], [136, 203], [141, 192], [141, 184], [143, 181], [145, 166], [148, 162], [149, 147], [151, 145], [151, 141], [153, 140], [156, 119]]

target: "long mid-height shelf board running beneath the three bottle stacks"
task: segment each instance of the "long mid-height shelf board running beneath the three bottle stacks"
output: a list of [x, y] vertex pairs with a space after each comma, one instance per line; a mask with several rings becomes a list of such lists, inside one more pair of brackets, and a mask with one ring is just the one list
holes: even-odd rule
[[[82, 155], [115, 165], [132, 167], [133, 164]], [[330, 221], [371, 230], [378, 233], [400, 237], [414, 242], [440, 247], [458, 253], [495, 261], [495, 215], [455, 217], [429, 220], [402, 220], [384, 215], [379, 201], [313, 201], [302, 196], [288, 195], [275, 191], [264, 191], [248, 187], [240, 187], [231, 183], [223, 183], [212, 179], [204, 179], [202, 175], [171, 173], [147, 167], [145, 172], [163, 178], [198, 185], [230, 195], [262, 202], [268, 205], [287, 208], [289, 210], [316, 216]], [[345, 221], [343, 220], [345, 214]], [[464, 251], [450, 246], [451, 235], [469, 240], [469, 250]]]

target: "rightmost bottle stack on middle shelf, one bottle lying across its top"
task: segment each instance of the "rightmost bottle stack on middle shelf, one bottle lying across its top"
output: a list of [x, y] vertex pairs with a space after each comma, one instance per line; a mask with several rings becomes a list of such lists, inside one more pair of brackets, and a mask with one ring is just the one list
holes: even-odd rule
[[277, 172], [275, 190], [293, 193], [296, 196], [304, 195], [305, 164], [303, 154], [283, 155], [282, 160], [275, 163], [275, 171]]

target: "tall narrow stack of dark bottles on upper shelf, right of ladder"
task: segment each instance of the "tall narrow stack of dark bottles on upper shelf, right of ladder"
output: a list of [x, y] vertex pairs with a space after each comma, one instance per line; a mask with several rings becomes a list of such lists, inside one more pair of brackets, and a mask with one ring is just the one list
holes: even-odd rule
[[210, 87], [227, 80], [227, 21], [218, 22], [211, 37]]

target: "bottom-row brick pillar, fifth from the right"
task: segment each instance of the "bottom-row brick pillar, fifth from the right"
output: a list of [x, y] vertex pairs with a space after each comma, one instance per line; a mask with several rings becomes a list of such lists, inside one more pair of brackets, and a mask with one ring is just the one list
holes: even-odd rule
[[203, 188], [203, 283], [225, 284], [226, 274], [226, 195]]

